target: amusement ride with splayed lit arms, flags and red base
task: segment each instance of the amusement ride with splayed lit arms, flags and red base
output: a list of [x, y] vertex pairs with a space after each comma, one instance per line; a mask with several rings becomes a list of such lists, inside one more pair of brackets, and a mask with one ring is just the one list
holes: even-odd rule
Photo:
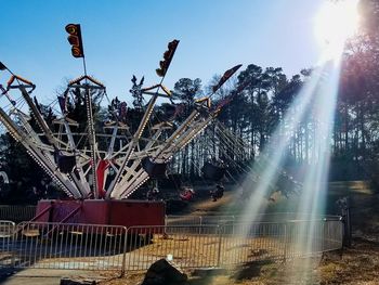
[[[194, 102], [194, 108], [180, 125], [172, 118], [153, 124], [154, 106], [158, 98], [171, 99], [171, 92], [162, 86], [166, 73], [174, 55], [178, 40], [168, 44], [157, 75], [159, 83], [144, 88], [143, 80], [130, 90], [135, 104], [143, 111], [136, 130], [131, 133], [122, 116], [126, 106], [119, 104], [112, 109], [110, 121], [99, 127], [94, 118], [93, 94], [107, 98], [106, 87], [87, 75], [80, 25], [66, 26], [68, 41], [75, 57], [82, 57], [84, 75], [68, 82], [67, 89], [58, 96], [62, 115], [51, 124], [42, 116], [37, 100], [31, 94], [36, 86], [15, 74], [4, 64], [11, 78], [1, 86], [2, 96], [10, 102], [10, 108], [0, 107], [0, 121], [14, 140], [19, 142], [38, 166], [62, 189], [70, 199], [41, 200], [34, 221], [80, 222], [91, 224], [164, 224], [162, 202], [139, 202], [127, 199], [148, 179], [166, 176], [167, 165], [173, 155], [194, 140], [218, 116], [221, 105], [211, 106], [211, 95], [240, 67], [228, 69], [211, 95]], [[17, 90], [22, 96], [13, 100], [11, 92]], [[86, 131], [78, 131], [79, 122], [70, 118], [68, 102], [74, 92], [81, 92], [87, 108]], [[144, 96], [149, 96], [143, 104]], [[30, 111], [38, 129], [30, 122], [31, 117], [22, 109], [24, 104]], [[53, 126], [53, 127], [51, 127]]]

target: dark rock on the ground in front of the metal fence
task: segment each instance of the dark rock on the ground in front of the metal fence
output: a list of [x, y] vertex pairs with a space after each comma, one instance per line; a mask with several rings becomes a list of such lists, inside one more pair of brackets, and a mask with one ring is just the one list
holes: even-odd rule
[[149, 267], [141, 285], [180, 285], [187, 278], [172, 261], [159, 259]]

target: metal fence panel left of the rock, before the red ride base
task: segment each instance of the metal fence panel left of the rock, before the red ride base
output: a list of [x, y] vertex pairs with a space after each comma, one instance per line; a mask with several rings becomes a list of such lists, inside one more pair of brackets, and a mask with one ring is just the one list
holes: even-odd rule
[[16, 231], [15, 268], [123, 270], [125, 226], [32, 222]]

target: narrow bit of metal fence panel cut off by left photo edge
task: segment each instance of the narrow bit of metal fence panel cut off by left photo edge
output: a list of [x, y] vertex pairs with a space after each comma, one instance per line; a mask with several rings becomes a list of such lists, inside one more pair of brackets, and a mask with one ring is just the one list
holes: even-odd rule
[[13, 235], [15, 223], [0, 220], [0, 268], [13, 265]]

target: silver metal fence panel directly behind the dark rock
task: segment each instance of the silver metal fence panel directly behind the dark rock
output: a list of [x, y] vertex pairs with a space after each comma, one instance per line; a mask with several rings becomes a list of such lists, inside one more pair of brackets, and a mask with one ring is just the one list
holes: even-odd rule
[[167, 257], [181, 268], [215, 267], [219, 234], [217, 225], [131, 226], [126, 270], [146, 270], [156, 260]]

